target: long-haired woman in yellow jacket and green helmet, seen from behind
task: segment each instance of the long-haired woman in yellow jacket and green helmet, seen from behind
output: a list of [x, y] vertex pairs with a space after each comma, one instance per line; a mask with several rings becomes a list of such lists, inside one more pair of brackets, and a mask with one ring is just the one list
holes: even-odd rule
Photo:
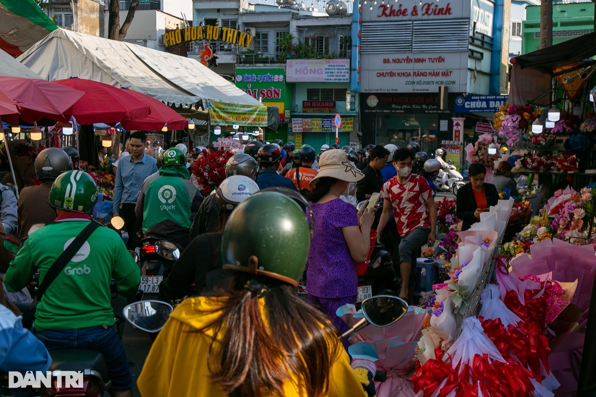
[[297, 296], [309, 240], [304, 211], [281, 193], [238, 205], [222, 236], [231, 282], [176, 307], [145, 360], [141, 395], [374, 395], [374, 364], [352, 370], [335, 327]]

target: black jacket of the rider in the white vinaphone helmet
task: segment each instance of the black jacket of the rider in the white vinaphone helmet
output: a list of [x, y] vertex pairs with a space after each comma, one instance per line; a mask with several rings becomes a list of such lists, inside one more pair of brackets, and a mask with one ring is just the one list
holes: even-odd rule
[[172, 273], [159, 285], [159, 299], [170, 301], [212, 290], [224, 277], [221, 256], [221, 233], [205, 233], [195, 237], [174, 264]]

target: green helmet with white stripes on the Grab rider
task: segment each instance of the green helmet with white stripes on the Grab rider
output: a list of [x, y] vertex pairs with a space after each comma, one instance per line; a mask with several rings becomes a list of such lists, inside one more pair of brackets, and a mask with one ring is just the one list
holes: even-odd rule
[[97, 202], [97, 185], [83, 171], [66, 171], [54, 180], [49, 190], [49, 205], [61, 210], [86, 214]]

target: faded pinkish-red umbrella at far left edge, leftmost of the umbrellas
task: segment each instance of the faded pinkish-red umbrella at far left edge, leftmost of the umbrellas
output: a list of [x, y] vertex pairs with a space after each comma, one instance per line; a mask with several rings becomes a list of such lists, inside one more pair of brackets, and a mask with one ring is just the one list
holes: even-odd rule
[[18, 125], [19, 118], [27, 123], [51, 118], [65, 117], [65, 113], [85, 92], [64, 87], [54, 82], [23, 77], [0, 77], [0, 87], [4, 88], [8, 98], [17, 105], [20, 115], [7, 115], [5, 121]]

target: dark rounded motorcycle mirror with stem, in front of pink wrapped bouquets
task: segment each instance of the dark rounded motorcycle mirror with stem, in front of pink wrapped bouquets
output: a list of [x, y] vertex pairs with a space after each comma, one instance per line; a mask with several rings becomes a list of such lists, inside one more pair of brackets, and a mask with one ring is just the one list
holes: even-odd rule
[[398, 321], [408, 311], [408, 302], [392, 295], [376, 295], [362, 301], [364, 318], [340, 336], [340, 340], [369, 324], [387, 327]]

